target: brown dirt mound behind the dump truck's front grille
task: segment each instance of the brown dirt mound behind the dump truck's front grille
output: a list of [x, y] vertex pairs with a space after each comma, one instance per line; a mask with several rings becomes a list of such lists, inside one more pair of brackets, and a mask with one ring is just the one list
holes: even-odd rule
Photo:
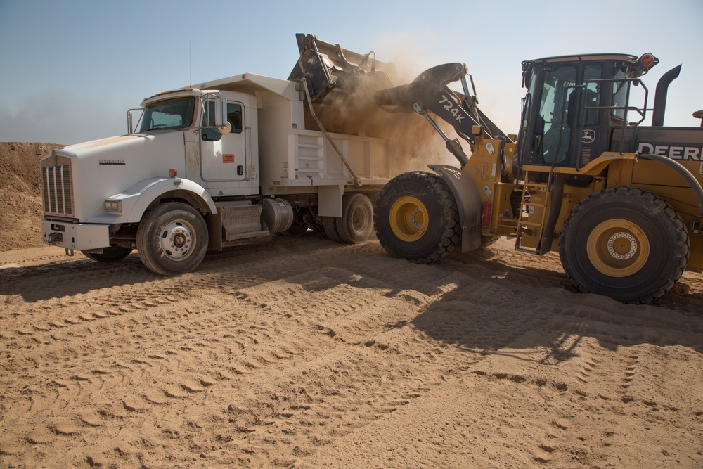
[[39, 160], [56, 143], [0, 142], [0, 251], [41, 245]]

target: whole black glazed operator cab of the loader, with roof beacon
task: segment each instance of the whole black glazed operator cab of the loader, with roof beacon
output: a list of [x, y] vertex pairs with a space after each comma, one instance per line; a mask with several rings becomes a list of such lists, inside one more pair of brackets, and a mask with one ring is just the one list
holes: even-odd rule
[[543, 166], [546, 172], [551, 167], [579, 168], [608, 150], [614, 127], [628, 124], [630, 85], [649, 67], [641, 65], [641, 58], [624, 54], [523, 62], [527, 94], [517, 169], [525, 165]]

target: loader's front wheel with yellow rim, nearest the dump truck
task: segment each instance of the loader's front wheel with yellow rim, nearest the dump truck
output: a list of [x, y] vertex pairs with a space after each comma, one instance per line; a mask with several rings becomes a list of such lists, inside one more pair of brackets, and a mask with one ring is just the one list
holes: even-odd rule
[[376, 236], [391, 255], [427, 264], [449, 254], [461, 238], [456, 200], [435, 174], [394, 177], [374, 208]]

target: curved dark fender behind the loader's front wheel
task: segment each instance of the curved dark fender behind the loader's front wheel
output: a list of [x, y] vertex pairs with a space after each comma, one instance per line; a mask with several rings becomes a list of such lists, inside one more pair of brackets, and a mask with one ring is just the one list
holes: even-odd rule
[[456, 167], [446, 165], [429, 167], [446, 182], [456, 200], [461, 225], [461, 252], [480, 248], [483, 205], [476, 183]]

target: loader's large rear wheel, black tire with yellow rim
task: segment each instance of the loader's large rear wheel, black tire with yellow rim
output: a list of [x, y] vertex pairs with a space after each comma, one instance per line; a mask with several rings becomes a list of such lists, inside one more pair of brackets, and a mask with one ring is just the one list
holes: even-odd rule
[[559, 253], [583, 293], [646, 303], [671, 290], [688, 262], [689, 238], [671, 205], [637, 188], [589, 195], [564, 221]]

